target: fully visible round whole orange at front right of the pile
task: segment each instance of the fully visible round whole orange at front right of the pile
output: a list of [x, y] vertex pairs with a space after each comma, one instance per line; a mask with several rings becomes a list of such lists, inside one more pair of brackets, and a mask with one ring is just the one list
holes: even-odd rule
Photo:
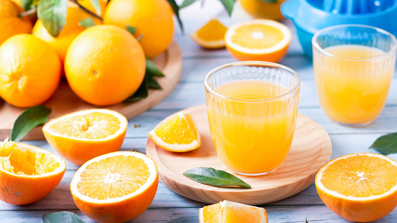
[[110, 105], [124, 101], [145, 76], [145, 54], [138, 41], [114, 25], [95, 25], [70, 44], [65, 74], [84, 101]]

